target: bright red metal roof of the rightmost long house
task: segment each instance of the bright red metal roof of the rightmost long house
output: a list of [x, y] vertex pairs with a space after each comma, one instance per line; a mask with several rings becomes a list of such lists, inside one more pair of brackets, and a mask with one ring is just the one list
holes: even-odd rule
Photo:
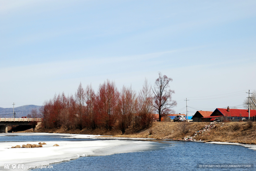
[[[248, 109], [222, 109], [217, 108], [226, 117], [249, 117]], [[250, 110], [250, 117], [256, 116], [256, 110]]]

